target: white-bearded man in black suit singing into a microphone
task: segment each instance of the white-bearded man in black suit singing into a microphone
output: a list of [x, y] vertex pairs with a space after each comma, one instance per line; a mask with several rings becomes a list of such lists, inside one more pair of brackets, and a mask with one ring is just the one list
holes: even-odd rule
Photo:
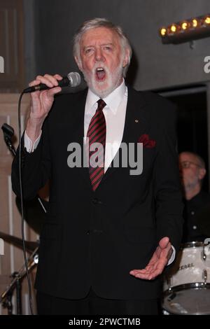
[[[59, 94], [58, 74], [29, 84], [50, 88], [31, 93], [22, 139], [25, 199], [50, 179], [38, 314], [158, 314], [161, 274], [182, 235], [174, 105], [125, 84], [131, 46], [108, 20], [85, 22], [73, 54], [86, 90]], [[86, 165], [70, 163], [72, 145]], [[12, 179], [19, 195], [18, 155]]]

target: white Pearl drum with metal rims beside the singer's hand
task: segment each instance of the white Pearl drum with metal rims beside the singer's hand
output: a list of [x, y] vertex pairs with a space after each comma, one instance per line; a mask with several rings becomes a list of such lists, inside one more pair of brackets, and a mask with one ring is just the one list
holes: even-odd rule
[[169, 314], [210, 314], [210, 245], [183, 244], [164, 282]]

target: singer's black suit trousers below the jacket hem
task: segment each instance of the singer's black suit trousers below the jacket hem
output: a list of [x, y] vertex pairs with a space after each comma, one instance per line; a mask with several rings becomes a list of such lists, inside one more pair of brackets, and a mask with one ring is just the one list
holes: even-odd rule
[[94, 290], [80, 300], [69, 300], [37, 291], [38, 315], [158, 315], [158, 300], [110, 300]]

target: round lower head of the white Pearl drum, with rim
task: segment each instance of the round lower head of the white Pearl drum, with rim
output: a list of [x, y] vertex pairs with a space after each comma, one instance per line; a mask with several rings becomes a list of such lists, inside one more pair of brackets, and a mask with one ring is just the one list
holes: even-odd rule
[[210, 284], [189, 283], [167, 290], [163, 309], [169, 314], [210, 314]]

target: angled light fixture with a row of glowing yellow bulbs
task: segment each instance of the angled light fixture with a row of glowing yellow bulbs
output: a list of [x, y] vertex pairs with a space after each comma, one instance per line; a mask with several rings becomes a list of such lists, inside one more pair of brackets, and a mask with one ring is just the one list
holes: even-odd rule
[[160, 28], [162, 43], [183, 43], [210, 36], [210, 14]]

